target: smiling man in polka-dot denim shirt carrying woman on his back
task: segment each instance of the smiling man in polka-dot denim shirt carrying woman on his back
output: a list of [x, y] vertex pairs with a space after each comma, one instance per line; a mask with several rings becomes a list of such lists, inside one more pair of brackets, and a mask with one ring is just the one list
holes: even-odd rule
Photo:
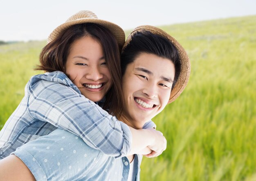
[[[184, 48], [166, 32], [151, 26], [132, 31], [121, 54], [121, 67], [124, 112], [119, 119], [137, 129], [181, 94], [190, 74]], [[33, 147], [40, 147], [41, 152]], [[146, 150], [141, 151], [145, 154]], [[115, 159], [60, 129], [23, 145], [13, 154], [29, 168], [13, 156], [12, 161], [18, 164], [14, 170], [25, 168], [26, 174], [19, 172], [19, 177], [42, 181], [139, 180], [142, 159], [141, 155]], [[13, 168], [8, 165], [7, 171]]]

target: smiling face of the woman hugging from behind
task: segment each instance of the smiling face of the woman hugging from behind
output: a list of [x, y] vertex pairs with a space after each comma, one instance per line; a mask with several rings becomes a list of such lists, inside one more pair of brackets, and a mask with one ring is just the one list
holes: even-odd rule
[[101, 44], [90, 36], [75, 40], [65, 64], [65, 73], [91, 101], [100, 101], [112, 86], [112, 77]]

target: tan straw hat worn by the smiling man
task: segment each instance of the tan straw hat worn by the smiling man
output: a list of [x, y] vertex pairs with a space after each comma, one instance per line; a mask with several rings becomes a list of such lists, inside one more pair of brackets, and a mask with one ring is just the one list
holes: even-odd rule
[[150, 31], [153, 34], [157, 34], [159, 36], [167, 38], [168, 40], [170, 40], [173, 43], [173, 45], [179, 51], [180, 62], [181, 62], [180, 76], [179, 76], [175, 86], [173, 87], [173, 89], [171, 91], [171, 95], [170, 95], [170, 98], [169, 98], [169, 101], [168, 101], [168, 104], [169, 104], [169, 103], [175, 101], [175, 99], [178, 96], [180, 96], [180, 94], [185, 89], [185, 87], [186, 87], [186, 85], [187, 85], [187, 83], [189, 81], [189, 75], [190, 75], [189, 56], [186, 54], [185, 49], [180, 45], [180, 43], [177, 40], [175, 40], [172, 36], [167, 34], [162, 29], [159, 29], [157, 27], [153, 27], [153, 26], [150, 26], [150, 25], [143, 25], [143, 26], [139, 26], [139, 27], [135, 28], [130, 33], [130, 35], [128, 36], [126, 42], [124, 43], [123, 50], [126, 48], [126, 46], [132, 40], [132, 35], [135, 34], [138, 31], [141, 32], [141, 33], [143, 33], [143, 31]]

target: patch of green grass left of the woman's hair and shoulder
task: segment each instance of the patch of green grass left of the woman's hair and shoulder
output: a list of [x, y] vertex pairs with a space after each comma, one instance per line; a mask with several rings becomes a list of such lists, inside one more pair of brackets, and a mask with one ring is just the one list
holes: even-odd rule
[[29, 78], [39, 63], [45, 42], [27, 42], [0, 46], [0, 129], [24, 96]]

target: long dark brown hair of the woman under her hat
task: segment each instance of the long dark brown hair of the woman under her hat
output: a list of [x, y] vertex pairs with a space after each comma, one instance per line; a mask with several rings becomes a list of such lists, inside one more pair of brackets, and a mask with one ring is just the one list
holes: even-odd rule
[[110, 114], [120, 116], [123, 109], [120, 49], [115, 37], [105, 27], [94, 23], [77, 24], [69, 27], [42, 49], [39, 57], [40, 65], [36, 67], [36, 70], [65, 73], [65, 63], [70, 46], [75, 40], [85, 36], [91, 36], [101, 43], [113, 79], [113, 85], [106, 94], [103, 109], [109, 109]]

